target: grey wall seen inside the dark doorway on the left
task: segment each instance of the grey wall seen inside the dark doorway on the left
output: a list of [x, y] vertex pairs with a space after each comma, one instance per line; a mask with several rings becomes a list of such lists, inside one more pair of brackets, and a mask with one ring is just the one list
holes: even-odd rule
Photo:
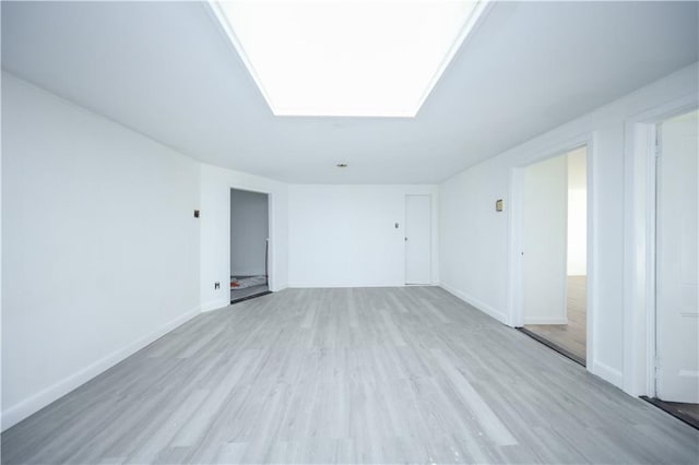
[[230, 190], [232, 276], [264, 274], [269, 219], [266, 194]]

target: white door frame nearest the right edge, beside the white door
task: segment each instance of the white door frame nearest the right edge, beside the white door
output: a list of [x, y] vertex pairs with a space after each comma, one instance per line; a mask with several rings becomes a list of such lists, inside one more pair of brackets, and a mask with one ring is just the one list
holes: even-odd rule
[[623, 388], [635, 396], [656, 394], [656, 128], [698, 108], [694, 93], [625, 121]]

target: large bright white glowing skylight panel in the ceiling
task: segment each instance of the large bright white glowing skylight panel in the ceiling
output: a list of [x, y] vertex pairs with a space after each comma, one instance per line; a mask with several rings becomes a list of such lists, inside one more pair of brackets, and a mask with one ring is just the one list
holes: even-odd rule
[[485, 1], [211, 5], [274, 115], [414, 117]]

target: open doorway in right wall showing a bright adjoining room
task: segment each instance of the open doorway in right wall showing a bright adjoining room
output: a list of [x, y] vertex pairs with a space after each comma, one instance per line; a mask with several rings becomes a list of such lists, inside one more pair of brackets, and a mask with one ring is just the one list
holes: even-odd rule
[[520, 330], [578, 363], [588, 346], [588, 150], [523, 169]]

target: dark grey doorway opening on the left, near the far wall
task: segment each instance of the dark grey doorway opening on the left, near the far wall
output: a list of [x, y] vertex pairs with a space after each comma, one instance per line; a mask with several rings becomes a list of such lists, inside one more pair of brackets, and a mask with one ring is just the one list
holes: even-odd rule
[[270, 294], [269, 194], [230, 189], [230, 303]]

